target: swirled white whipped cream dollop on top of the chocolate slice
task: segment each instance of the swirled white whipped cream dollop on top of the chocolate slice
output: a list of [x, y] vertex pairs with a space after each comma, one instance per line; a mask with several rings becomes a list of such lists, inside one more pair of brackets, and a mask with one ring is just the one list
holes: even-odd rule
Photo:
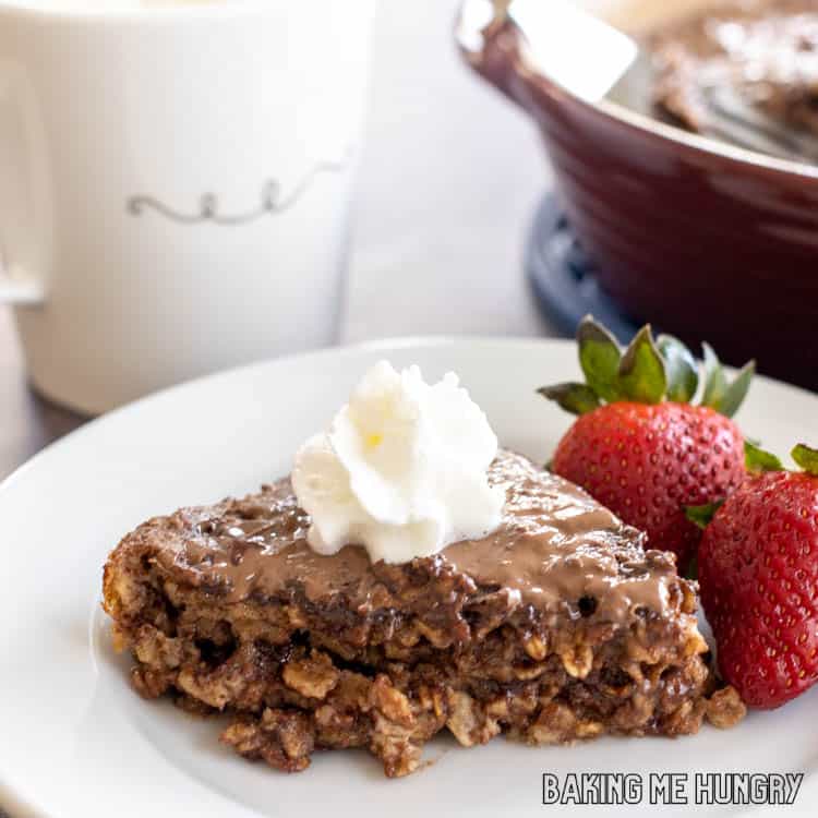
[[329, 429], [296, 455], [292, 488], [312, 517], [320, 554], [363, 545], [373, 562], [405, 563], [497, 527], [505, 502], [486, 470], [497, 454], [489, 421], [448, 373], [372, 366]]

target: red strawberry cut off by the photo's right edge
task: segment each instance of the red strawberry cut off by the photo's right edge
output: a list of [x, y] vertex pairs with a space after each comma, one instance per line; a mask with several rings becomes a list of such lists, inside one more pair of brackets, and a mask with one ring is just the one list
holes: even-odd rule
[[750, 478], [699, 545], [719, 666], [750, 707], [779, 707], [818, 681], [818, 452], [796, 446], [793, 459], [807, 471]]

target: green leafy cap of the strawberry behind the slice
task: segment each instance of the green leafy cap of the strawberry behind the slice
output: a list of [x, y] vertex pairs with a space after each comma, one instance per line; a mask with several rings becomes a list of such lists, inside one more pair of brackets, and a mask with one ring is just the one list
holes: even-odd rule
[[[622, 400], [687, 404], [699, 388], [698, 364], [690, 350], [672, 335], [660, 335], [654, 341], [649, 324], [623, 352], [611, 333], [592, 315], [587, 315], [577, 328], [577, 344], [586, 383], [557, 384], [538, 390], [574, 414]], [[747, 395], [755, 363], [745, 365], [731, 383], [715, 352], [707, 344], [703, 350], [701, 405], [730, 418]]]

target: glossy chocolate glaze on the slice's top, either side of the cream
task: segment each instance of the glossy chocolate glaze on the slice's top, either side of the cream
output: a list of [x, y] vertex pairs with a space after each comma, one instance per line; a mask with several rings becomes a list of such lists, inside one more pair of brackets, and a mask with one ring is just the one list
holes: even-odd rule
[[[675, 565], [663, 552], [645, 552], [642, 534], [519, 455], [501, 453], [489, 478], [507, 490], [500, 527], [416, 563], [458, 572], [478, 587], [507, 589], [541, 611], [564, 610], [566, 601], [577, 611], [585, 600], [612, 622], [629, 621], [639, 609], [665, 613], [670, 588], [678, 584]], [[388, 566], [373, 565], [358, 545], [333, 556], [310, 549], [310, 518], [288, 479], [243, 501], [183, 509], [164, 522], [176, 533], [154, 558], [175, 581], [231, 602], [298, 590], [311, 602], [345, 594], [362, 610], [388, 605]]]

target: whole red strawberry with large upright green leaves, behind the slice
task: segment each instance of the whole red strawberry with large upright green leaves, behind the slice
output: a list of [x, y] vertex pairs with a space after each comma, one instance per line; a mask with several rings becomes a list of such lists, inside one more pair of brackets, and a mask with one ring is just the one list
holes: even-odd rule
[[744, 438], [727, 416], [747, 394], [754, 364], [727, 384], [706, 346], [702, 405], [693, 406], [696, 361], [675, 338], [660, 336], [654, 344], [648, 326], [623, 354], [588, 317], [577, 339], [587, 383], [540, 390], [581, 416], [560, 442], [552, 468], [647, 531], [650, 546], [675, 553], [684, 569], [701, 539], [685, 507], [724, 500], [744, 480]]

